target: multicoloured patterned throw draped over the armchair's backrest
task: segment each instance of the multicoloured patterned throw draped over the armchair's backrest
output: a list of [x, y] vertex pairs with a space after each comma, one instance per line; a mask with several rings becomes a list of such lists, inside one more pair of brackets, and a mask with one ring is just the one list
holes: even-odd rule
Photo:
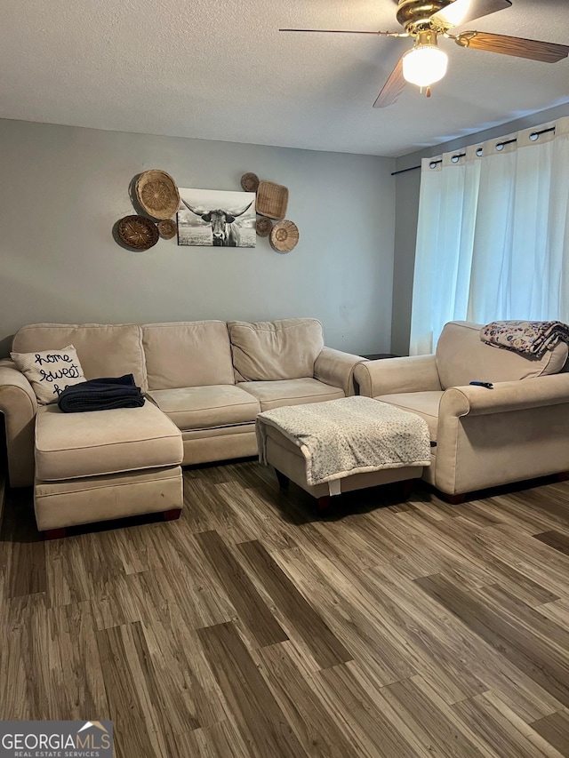
[[541, 358], [557, 342], [569, 343], [569, 325], [561, 321], [493, 321], [482, 327], [480, 339], [493, 347]]

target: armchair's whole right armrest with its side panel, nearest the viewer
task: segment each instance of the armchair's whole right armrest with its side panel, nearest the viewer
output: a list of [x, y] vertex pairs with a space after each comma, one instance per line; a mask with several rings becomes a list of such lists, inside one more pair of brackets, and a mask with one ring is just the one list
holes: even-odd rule
[[449, 387], [438, 411], [435, 486], [472, 492], [567, 470], [569, 374]]

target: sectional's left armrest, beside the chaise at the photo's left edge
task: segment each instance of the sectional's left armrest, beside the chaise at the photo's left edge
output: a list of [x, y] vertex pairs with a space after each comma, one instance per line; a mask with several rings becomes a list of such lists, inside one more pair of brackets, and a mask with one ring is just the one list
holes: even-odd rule
[[0, 361], [0, 411], [4, 413], [12, 487], [34, 483], [34, 423], [37, 402], [28, 379], [9, 360]]

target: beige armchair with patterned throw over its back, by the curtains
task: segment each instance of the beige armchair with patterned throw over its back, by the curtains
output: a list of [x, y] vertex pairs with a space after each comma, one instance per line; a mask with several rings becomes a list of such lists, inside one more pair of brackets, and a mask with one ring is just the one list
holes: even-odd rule
[[[560, 343], [541, 360], [486, 345], [480, 324], [450, 322], [436, 355], [361, 363], [361, 395], [429, 424], [423, 479], [451, 502], [498, 484], [569, 469], [569, 372]], [[492, 382], [493, 389], [470, 381]]]

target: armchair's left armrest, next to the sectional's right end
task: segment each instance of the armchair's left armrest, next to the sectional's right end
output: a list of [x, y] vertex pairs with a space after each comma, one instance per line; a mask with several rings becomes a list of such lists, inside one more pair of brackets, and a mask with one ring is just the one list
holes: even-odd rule
[[360, 395], [366, 397], [441, 389], [435, 355], [367, 361], [357, 366], [355, 377]]

